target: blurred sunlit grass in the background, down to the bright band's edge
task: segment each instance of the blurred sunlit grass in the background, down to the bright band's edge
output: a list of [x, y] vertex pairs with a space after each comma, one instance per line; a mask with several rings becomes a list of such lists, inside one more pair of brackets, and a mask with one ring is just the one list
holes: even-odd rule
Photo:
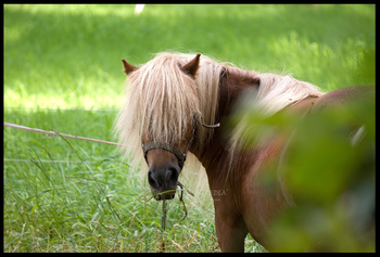
[[[332, 90], [375, 82], [375, 4], [5, 4], [9, 106], [115, 107], [121, 59], [200, 52], [245, 69], [286, 72]], [[375, 70], [375, 62], [370, 69]]]

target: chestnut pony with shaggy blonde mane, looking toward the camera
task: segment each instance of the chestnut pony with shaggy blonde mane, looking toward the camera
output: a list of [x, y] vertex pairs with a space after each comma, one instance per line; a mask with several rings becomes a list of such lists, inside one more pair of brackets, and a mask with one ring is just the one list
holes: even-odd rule
[[122, 61], [128, 75], [127, 100], [115, 120], [122, 151], [148, 164], [157, 201], [175, 196], [188, 151], [201, 162], [210, 190], [224, 192], [212, 195], [221, 252], [244, 252], [248, 233], [271, 250], [269, 224], [294, 205], [280, 179], [270, 193], [259, 184], [265, 167], [279, 165], [287, 141], [268, 139], [242, 151], [239, 133], [228, 132], [226, 120], [238, 100], [254, 91], [265, 115], [287, 111], [302, 116], [375, 95], [373, 87], [324, 93], [291, 76], [243, 70], [201, 54], [162, 52], [140, 67]]

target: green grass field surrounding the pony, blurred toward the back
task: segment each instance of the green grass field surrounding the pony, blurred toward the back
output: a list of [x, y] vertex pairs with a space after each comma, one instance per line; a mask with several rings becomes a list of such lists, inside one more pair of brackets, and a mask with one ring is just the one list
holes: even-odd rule
[[[375, 83], [375, 5], [3, 10], [4, 121], [33, 128], [115, 141], [121, 59], [138, 65], [165, 50], [290, 73], [325, 91]], [[3, 252], [160, 252], [161, 203], [115, 146], [11, 128], [3, 137]], [[168, 222], [167, 252], [219, 250], [210, 193], [195, 196], [185, 194], [183, 221]], [[176, 200], [170, 220], [183, 216]], [[245, 250], [265, 249], [248, 236]]]

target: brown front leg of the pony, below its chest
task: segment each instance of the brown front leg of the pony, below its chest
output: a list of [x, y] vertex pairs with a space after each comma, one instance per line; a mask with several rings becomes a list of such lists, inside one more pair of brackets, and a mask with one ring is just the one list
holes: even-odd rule
[[248, 234], [242, 217], [228, 205], [215, 205], [215, 229], [223, 253], [243, 253]]

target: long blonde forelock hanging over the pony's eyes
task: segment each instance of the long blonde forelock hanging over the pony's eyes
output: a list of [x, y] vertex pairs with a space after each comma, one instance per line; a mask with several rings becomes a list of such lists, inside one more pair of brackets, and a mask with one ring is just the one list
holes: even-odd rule
[[177, 60], [159, 56], [129, 77], [124, 114], [129, 114], [125, 129], [134, 137], [178, 143], [185, 138], [189, 121], [199, 115], [195, 83], [180, 70]]

